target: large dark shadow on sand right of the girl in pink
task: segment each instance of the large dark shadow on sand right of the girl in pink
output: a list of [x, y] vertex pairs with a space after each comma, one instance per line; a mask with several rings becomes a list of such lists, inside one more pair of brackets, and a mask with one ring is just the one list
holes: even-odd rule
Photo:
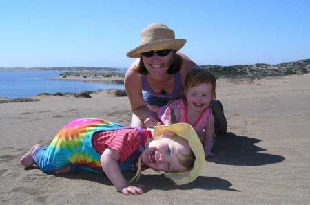
[[236, 166], [260, 166], [285, 160], [280, 155], [260, 153], [260, 151], [266, 151], [266, 149], [254, 145], [260, 141], [256, 138], [227, 133], [225, 136], [216, 138], [214, 158], [209, 158], [208, 161]]

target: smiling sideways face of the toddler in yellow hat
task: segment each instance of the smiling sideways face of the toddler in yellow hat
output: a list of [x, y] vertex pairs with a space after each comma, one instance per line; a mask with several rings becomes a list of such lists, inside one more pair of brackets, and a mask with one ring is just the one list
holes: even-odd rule
[[158, 140], [147, 144], [141, 153], [141, 160], [155, 171], [180, 172], [188, 168], [182, 166], [178, 160], [180, 153], [187, 155], [190, 148], [187, 141], [180, 138], [162, 135]]

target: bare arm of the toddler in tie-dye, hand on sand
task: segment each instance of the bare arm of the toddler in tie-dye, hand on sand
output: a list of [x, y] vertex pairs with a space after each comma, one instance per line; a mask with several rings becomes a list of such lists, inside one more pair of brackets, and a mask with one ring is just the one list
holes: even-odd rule
[[127, 183], [123, 177], [119, 165], [119, 153], [114, 149], [105, 149], [101, 155], [100, 162], [105, 172], [116, 189], [125, 195], [139, 195], [143, 193], [143, 189], [139, 186], [132, 186]]

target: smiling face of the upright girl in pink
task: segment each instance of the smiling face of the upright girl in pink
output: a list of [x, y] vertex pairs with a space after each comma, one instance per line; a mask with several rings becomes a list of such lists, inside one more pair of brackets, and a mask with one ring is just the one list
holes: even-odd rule
[[213, 100], [211, 83], [200, 83], [190, 87], [185, 94], [187, 106], [194, 111], [203, 111], [207, 109]]

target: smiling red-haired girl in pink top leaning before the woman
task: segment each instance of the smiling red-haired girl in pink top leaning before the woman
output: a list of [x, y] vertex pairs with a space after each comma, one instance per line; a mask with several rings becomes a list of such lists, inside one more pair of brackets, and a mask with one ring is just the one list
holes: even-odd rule
[[[203, 143], [205, 158], [212, 157], [214, 116], [209, 107], [216, 98], [216, 78], [205, 69], [194, 69], [185, 79], [184, 98], [175, 100], [157, 111], [164, 125], [186, 122], [194, 127]], [[145, 125], [148, 123], [145, 120]], [[150, 124], [152, 127], [152, 125]]]

